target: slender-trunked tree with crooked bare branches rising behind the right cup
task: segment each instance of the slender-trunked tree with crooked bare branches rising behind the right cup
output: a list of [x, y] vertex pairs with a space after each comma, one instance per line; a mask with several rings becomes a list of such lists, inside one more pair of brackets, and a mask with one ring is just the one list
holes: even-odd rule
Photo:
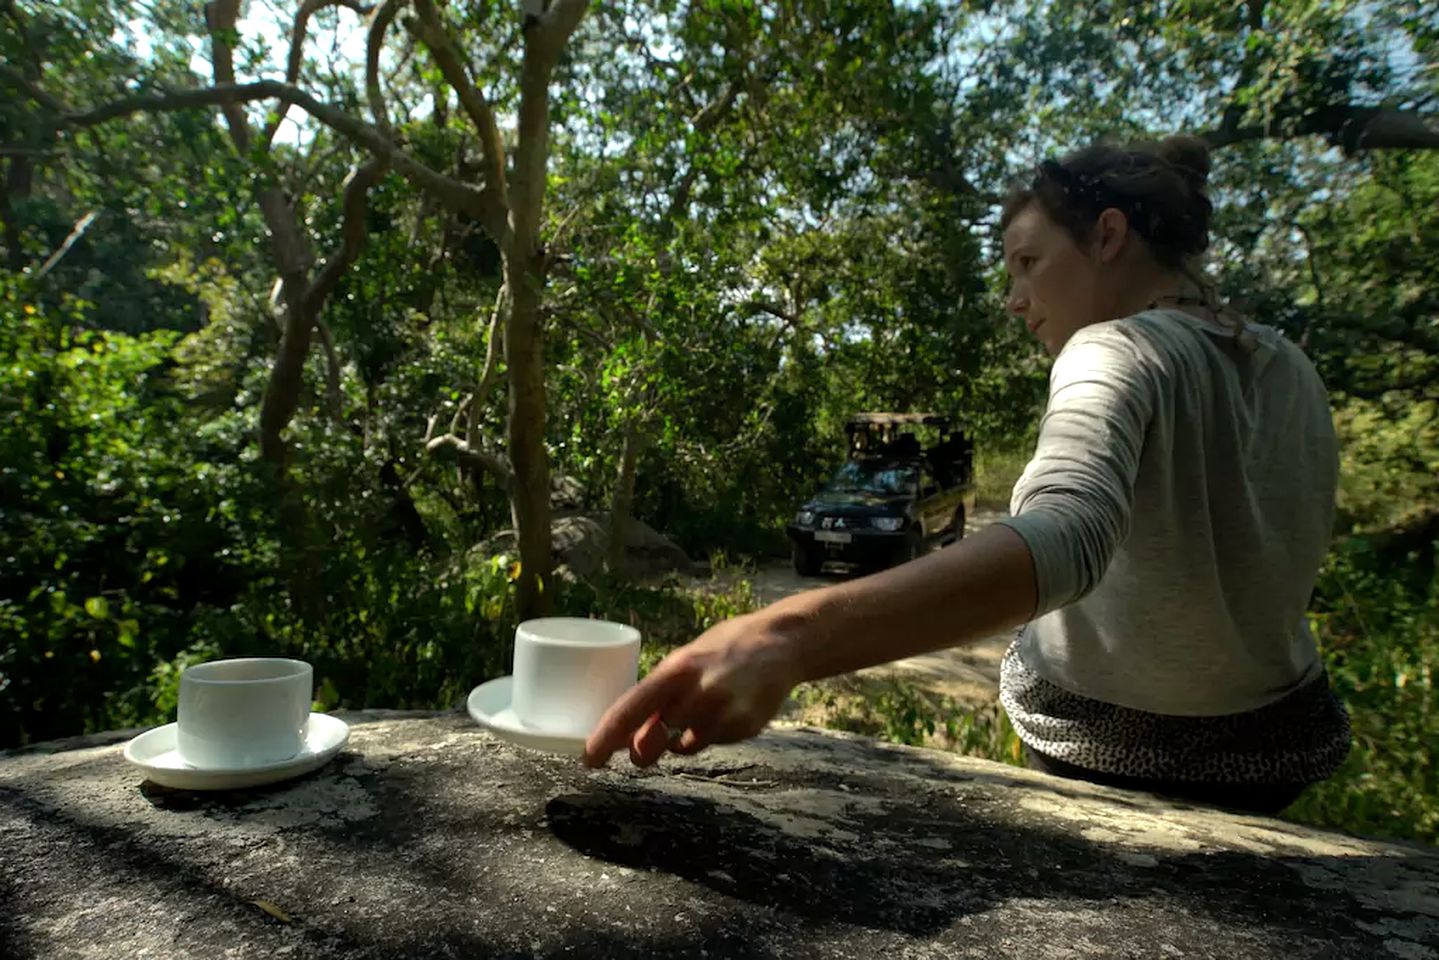
[[[380, 173], [393, 167], [446, 207], [476, 217], [498, 245], [504, 263], [505, 358], [511, 397], [508, 448], [514, 471], [511, 504], [522, 563], [518, 594], [519, 606], [527, 615], [540, 613], [545, 607], [543, 584], [551, 566], [548, 459], [544, 448], [544, 348], [540, 321], [541, 296], [550, 269], [541, 239], [550, 135], [550, 81], [587, 3], [557, 0], [541, 13], [522, 12], [517, 132], [511, 157], [507, 154], [492, 104], [476, 86], [475, 78], [458, 53], [450, 24], [433, 0], [414, 0], [416, 16], [406, 22], [406, 27], [426, 47], [435, 68], [475, 127], [482, 164], [479, 187], [462, 183], [413, 158], [394, 137], [378, 63], [386, 30], [400, 7], [406, 6], [400, 0], [386, 0], [370, 19], [366, 94], [371, 122], [322, 102], [295, 85], [308, 19], [317, 10], [334, 3], [358, 7], [348, 0], [304, 0], [299, 6], [291, 30], [291, 55], [283, 82], [235, 82], [233, 39], [239, 0], [213, 0], [206, 7], [214, 65], [214, 85], [209, 88], [141, 94], [81, 111], [69, 108], [47, 94], [39, 82], [27, 79], [12, 68], [4, 68], [0, 79], [27, 92], [45, 107], [52, 114], [50, 122], [56, 128], [88, 128], [141, 111], [217, 105], [224, 114], [236, 147], [245, 154], [252, 148], [263, 154], [273, 142], [286, 109], [298, 105], [371, 154], [345, 184], [342, 203], [351, 229], [345, 230], [341, 249], [315, 275], [311, 275], [312, 255], [307, 239], [298, 229], [294, 210], [286, 206], [278, 184], [265, 184], [258, 194], [271, 230], [276, 266], [281, 271], [286, 317], [285, 335], [260, 415], [262, 449], [268, 459], [276, 462], [283, 456], [279, 436], [295, 412], [295, 397], [315, 318], [324, 298], [334, 289], [363, 243], [366, 194]], [[279, 107], [256, 134], [242, 104], [269, 98], [276, 99]], [[263, 163], [263, 155], [255, 160]]]

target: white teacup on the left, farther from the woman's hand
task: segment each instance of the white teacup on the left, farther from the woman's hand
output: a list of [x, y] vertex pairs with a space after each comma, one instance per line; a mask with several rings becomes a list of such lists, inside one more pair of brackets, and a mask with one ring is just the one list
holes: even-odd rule
[[305, 744], [315, 672], [304, 661], [243, 658], [180, 674], [176, 747], [201, 770], [260, 767]]

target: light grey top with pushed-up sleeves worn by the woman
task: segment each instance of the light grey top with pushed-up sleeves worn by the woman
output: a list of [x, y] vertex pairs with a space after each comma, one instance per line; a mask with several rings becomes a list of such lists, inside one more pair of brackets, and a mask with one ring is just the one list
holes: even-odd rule
[[1320, 672], [1305, 610], [1338, 452], [1312, 364], [1278, 331], [1158, 309], [1065, 344], [1013, 528], [1039, 610], [1019, 653], [1075, 694], [1222, 715]]

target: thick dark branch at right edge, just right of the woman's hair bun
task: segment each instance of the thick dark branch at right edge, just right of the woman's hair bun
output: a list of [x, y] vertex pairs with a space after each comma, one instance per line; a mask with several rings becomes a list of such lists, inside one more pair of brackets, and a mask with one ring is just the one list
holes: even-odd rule
[[1210, 150], [1297, 137], [1324, 137], [1347, 154], [1363, 150], [1439, 150], [1439, 114], [1335, 104], [1299, 117], [1276, 117], [1250, 127], [1220, 125], [1203, 134]]

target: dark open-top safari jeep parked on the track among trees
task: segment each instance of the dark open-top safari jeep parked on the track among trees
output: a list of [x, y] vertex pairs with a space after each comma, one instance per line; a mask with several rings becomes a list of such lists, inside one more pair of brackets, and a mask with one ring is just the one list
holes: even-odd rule
[[964, 535], [974, 446], [961, 432], [932, 413], [858, 413], [845, 433], [845, 465], [789, 525], [796, 573], [816, 576], [827, 561], [889, 567]]

